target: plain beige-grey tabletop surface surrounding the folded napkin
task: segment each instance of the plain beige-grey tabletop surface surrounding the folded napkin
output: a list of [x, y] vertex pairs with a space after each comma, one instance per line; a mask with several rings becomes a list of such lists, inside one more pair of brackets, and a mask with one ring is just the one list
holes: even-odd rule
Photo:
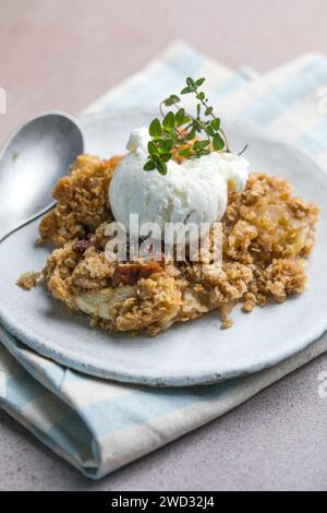
[[[46, 109], [76, 112], [173, 39], [264, 72], [327, 55], [326, 0], [0, 0], [0, 145]], [[327, 356], [98, 484], [0, 414], [0, 489], [327, 489]]]

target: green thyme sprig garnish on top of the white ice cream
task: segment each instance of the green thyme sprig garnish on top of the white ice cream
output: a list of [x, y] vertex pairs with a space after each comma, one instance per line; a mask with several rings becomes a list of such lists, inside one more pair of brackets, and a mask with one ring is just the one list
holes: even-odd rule
[[[205, 79], [186, 79], [181, 95], [193, 94], [196, 103], [196, 116], [190, 116], [180, 107], [180, 96], [172, 94], [160, 104], [162, 120], [154, 119], [148, 132], [152, 140], [148, 143], [148, 158], [144, 166], [146, 171], [157, 169], [161, 175], [167, 174], [167, 163], [173, 156], [184, 158], [201, 158], [211, 151], [230, 153], [230, 146], [220, 118], [214, 114], [214, 107], [201, 86]], [[171, 107], [166, 114], [164, 108]], [[199, 139], [205, 134], [205, 139]], [[244, 150], [243, 150], [244, 151]]]

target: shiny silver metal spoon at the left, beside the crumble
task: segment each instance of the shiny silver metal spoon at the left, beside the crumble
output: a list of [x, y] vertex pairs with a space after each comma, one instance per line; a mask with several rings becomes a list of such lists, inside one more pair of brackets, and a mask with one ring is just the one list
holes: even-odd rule
[[24, 124], [0, 153], [0, 242], [55, 205], [51, 191], [83, 153], [74, 119], [48, 112]]

